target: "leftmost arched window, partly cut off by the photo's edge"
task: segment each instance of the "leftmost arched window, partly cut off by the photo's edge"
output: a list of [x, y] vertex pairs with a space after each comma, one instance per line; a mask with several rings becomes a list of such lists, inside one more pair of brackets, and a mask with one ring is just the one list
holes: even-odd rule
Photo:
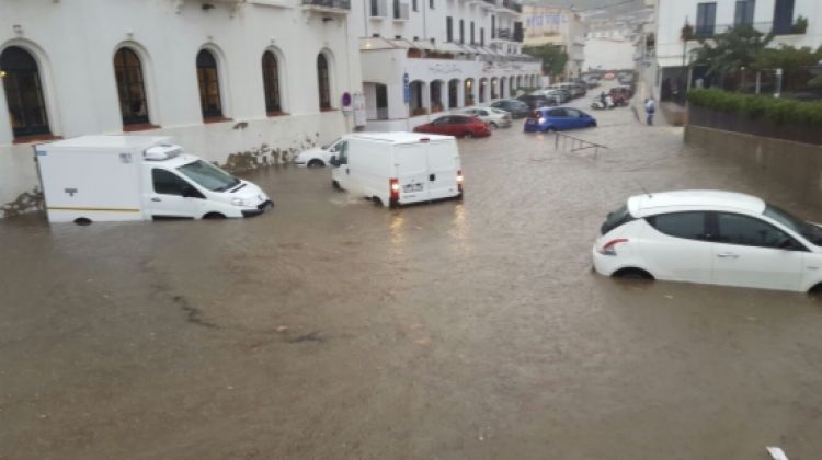
[[14, 137], [50, 134], [43, 85], [34, 57], [19, 46], [5, 48], [0, 55], [0, 76]]

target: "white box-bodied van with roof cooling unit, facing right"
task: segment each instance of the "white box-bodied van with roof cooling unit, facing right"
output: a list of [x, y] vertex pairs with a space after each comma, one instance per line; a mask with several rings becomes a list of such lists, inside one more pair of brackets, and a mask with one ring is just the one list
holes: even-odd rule
[[52, 222], [246, 217], [273, 205], [167, 137], [82, 136], [34, 150]]

